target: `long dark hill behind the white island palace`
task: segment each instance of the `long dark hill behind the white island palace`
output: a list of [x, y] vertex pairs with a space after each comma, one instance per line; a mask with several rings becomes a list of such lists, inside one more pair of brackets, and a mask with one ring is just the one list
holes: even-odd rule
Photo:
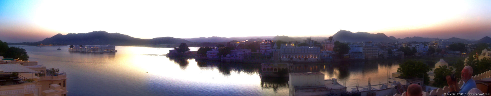
[[191, 43], [185, 39], [181, 38], [152, 38], [152, 39], [141, 39], [133, 38], [128, 35], [119, 33], [108, 33], [106, 31], [93, 31], [89, 33], [70, 33], [67, 35], [56, 34], [51, 38], [45, 38], [38, 42], [24, 42], [24, 43], [9, 43], [12, 45], [16, 44], [66, 44], [66, 45], [103, 45], [103, 44], [113, 44], [113, 45], [134, 45], [134, 44], [179, 44], [179, 43]]

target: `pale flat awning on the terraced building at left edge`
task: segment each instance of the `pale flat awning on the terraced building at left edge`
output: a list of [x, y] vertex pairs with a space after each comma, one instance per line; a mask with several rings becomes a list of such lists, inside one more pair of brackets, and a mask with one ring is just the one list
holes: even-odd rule
[[19, 73], [41, 73], [26, 68], [21, 64], [0, 64], [0, 72], [19, 72]]

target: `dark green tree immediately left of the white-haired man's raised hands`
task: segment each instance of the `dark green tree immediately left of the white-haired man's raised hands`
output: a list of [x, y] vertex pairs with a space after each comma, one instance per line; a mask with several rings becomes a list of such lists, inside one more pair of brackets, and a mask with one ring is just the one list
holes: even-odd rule
[[[451, 66], [443, 65], [440, 66], [439, 68], [435, 69], [435, 83], [433, 83], [433, 86], [435, 87], [443, 87], [447, 85], [446, 81], [446, 76], [452, 75], [452, 68]], [[458, 71], [458, 70], [457, 70]], [[456, 76], [457, 77], [457, 76]]]

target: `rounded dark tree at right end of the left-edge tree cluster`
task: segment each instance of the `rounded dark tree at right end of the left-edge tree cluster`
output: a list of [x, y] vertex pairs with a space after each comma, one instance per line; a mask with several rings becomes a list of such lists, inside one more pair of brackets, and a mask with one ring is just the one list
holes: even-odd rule
[[18, 47], [10, 47], [5, 53], [5, 58], [17, 58], [19, 60], [28, 60], [26, 49]]

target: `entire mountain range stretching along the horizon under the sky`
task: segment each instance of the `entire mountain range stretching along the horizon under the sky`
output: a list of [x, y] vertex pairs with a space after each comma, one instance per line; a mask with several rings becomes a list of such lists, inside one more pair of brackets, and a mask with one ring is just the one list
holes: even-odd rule
[[[423, 37], [406, 37], [406, 38], [395, 38], [387, 37], [383, 33], [371, 34], [367, 32], [350, 32], [346, 30], [339, 30], [333, 36], [334, 40], [342, 42], [361, 42], [361, 41], [374, 41], [374, 42], [429, 42], [438, 38], [423, 38]], [[147, 45], [147, 44], [179, 44], [179, 43], [194, 43], [194, 42], [229, 42], [232, 40], [249, 40], [258, 41], [264, 39], [271, 40], [282, 40], [282, 41], [303, 41], [306, 38], [311, 38], [316, 41], [323, 41], [327, 37], [288, 37], [288, 36], [263, 36], [263, 37], [209, 37], [209, 38], [172, 38], [172, 37], [162, 37], [162, 38], [152, 38], [152, 39], [141, 39], [133, 38], [128, 35], [119, 33], [108, 33], [106, 31], [93, 31], [89, 33], [79, 33], [79, 34], [56, 34], [51, 38], [45, 38], [38, 42], [22, 42], [22, 43], [8, 43], [11, 45], [36, 45], [36, 44], [66, 44], [66, 45], [102, 45], [102, 44], [114, 44], [114, 45]], [[440, 38], [441, 39], [441, 38]], [[491, 43], [490, 37], [484, 37], [479, 40], [474, 39], [463, 39], [463, 38], [448, 38], [443, 39], [450, 42], [463, 42], [463, 43]]]

